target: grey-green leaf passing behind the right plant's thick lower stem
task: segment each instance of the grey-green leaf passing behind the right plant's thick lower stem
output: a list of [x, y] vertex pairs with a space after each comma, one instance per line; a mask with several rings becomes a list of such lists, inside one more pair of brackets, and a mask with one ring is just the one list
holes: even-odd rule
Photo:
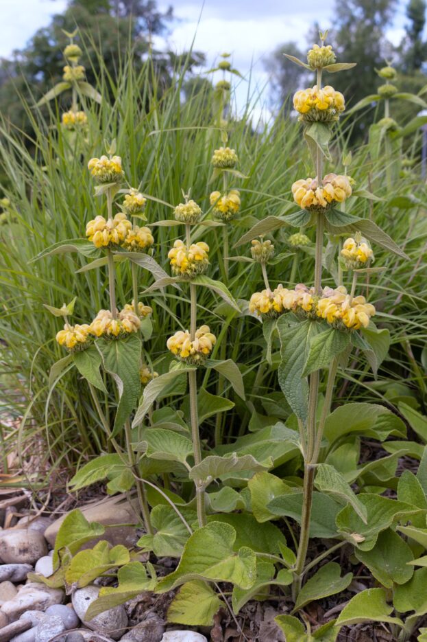
[[[272, 499], [267, 509], [277, 516], [291, 517], [301, 524], [302, 492], [288, 492]], [[311, 507], [310, 537], [336, 538], [338, 536], [335, 518], [341, 505], [329, 495], [313, 492]]]

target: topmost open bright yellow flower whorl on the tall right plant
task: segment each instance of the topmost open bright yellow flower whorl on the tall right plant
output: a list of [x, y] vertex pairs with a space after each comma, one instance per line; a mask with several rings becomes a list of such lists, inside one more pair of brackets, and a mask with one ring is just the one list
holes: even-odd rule
[[317, 85], [300, 89], [293, 96], [293, 107], [301, 114], [302, 122], [332, 122], [339, 119], [345, 109], [344, 96], [330, 85], [318, 89]]

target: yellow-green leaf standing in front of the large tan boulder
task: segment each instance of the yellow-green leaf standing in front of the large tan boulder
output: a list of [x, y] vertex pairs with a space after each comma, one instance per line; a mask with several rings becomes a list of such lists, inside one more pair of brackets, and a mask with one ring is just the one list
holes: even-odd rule
[[83, 544], [103, 535], [104, 532], [103, 525], [97, 522], [89, 523], [79, 509], [76, 508], [71, 511], [64, 518], [56, 536], [55, 550], [53, 551], [53, 569], [58, 566], [58, 553], [61, 549], [66, 547], [71, 555], [74, 555]]

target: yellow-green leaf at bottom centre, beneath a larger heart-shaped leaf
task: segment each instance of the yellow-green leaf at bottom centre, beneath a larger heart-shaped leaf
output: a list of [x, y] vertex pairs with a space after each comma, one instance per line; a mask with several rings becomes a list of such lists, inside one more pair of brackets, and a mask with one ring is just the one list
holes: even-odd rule
[[167, 621], [188, 626], [212, 626], [215, 613], [225, 606], [217, 593], [202, 580], [186, 582], [171, 601]]

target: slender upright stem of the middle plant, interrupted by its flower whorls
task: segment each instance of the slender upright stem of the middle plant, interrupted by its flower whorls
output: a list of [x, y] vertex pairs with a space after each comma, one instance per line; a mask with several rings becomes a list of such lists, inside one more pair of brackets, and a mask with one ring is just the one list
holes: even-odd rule
[[[186, 244], [191, 245], [190, 225], [185, 226]], [[197, 324], [197, 293], [195, 284], [190, 282], [190, 340], [195, 340]], [[197, 371], [194, 369], [188, 372], [188, 395], [190, 397], [190, 419], [191, 419], [191, 437], [193, 439], [194, 463], [195, 466], [202, 461], [202, 450], [200, 448], [199, 435], [199, 413], [197, 411]], [[195, 481], [197, 520], [199, 526], [206, 525], [206, 506], [205, 490], [200, 481]]]

